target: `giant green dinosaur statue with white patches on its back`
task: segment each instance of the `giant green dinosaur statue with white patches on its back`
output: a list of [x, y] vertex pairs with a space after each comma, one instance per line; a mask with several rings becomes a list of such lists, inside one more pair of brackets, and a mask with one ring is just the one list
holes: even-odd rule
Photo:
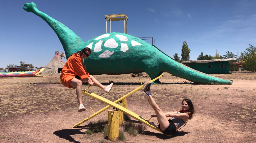
[[35, 3], [25, 3], [23, 9], [36, 14], [50, 25], [59, 37], [67, 59], [73, 53], [89, 47], [92, 53], [90, 58], [84, 59], [84, 63], [87, 71], [92, 75], [146, 72], [151, 79], [154, 79], [167, 72], [194, 83], [232, 84], [233, 82], [189, 68], [173, 60], [155, 46], [128, 34], [106, 33], [83, 42], [67, 26], [39, 11]]

